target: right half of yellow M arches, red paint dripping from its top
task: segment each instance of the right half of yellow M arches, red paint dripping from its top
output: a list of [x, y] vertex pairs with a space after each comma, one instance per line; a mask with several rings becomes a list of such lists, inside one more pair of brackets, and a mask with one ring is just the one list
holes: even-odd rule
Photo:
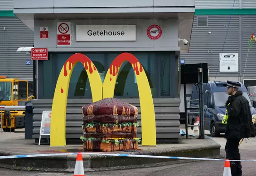
[[155, 108], [150, 85], [139, 60], [130, 53], [122, 53], [111, 63], [103, 83], [103, 98], [114, 97], [116, 79], [123, 62], [129, 61], [136, 75], [141, 112], [142, 145], [156, 145]]

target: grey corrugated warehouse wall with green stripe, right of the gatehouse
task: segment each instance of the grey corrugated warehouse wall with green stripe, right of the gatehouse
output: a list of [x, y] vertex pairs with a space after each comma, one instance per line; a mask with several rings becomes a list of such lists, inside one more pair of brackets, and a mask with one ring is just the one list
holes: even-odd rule
[[[185, 64], [207, 62], [210, 81], [232, 80], [246, 87], [256, 86], [256, 43], [252, 41], [249, 48], [251, 34], [256, 32], [254, 21], [255, 0], [195, 0], [190, 48], [188, 53], [181, 53], [181, 59]], [[223, 64], [225, 53], [235, 55], [236, 63]], [[184, 115], [183, 91], [181, 85], [181, 115]], [[192, 85], [187, 85], [187, 99], [191, 91]]]

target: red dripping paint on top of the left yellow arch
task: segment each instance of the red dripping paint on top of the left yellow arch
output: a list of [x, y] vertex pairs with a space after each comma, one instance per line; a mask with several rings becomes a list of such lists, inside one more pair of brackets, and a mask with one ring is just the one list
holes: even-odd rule
[[[92, 65], [91, 65], [91, 62], [92, 60], [90, 60], [87, 56], [83, 55], [83, 54], [80, 54], [80, 53], [76, 53], [76, 54], [73, 54], [72, 56], [70, 56], [68, 58], [68, 60], [65, 62], [64, 64], [64, 76], [68, 76], [68, 70], [67, 70], [67, 64], [69, 62], [69, 65], [68, 65], [68, 69], [71, 70], [72, 69], [72, 65], [74, 65], [76, 62], [81, 62], [84, 66], [84, 68], [86, 70], [89, 69], [89, 73], [92, 74], [93, 72], [93, 69], [92, 69]], [[89, 67], [88, 67], [88, 65]], [[93, 68], [94, 70], [96, 70], [95, 66], [93, 65]]]

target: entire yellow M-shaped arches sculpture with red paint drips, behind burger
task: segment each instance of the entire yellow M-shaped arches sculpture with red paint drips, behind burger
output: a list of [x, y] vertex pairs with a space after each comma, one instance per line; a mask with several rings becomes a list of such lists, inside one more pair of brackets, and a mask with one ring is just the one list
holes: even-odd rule
[[86, 69], [92, 89], [92, 101], [97, 102], [102, 98], [114, 96], [116, 79], [123, 62], [128, 61], [132, 65], [138, 84], [141, 111], [142, 145], [156, 145], [155, 109], [150, 85], [145, 70], [139, 60], [130, 53], [122, 53], [111, 63], [104, 83], [102, 85], [97, 68], [87, 56], [74, 54], [68, 58], [59, 74], [52, 107], [51, 117], [51, 146], [66, 145], [66, 108], [68, 100], [68, 87], [72, 70], [77, 62], [81, 62]]

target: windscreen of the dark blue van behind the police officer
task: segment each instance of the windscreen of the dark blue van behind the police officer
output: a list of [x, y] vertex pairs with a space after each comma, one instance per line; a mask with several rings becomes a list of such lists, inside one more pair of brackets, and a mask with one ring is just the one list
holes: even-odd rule
[[[227, 94], [227, 92], [215, 92], [213, 93], [214, 96], [214, 104], [217, 107], [223, 107], [225, 106], [225, 103], [227, 101], [227, 98], [229, 97], [229, 95]], [[246, 99], [249, 102], [250, 107], [252, 107], [251, 105], [251, 100], [248, 96], [248, 93], [243, 92], [243, 96], [246, 97]]]

